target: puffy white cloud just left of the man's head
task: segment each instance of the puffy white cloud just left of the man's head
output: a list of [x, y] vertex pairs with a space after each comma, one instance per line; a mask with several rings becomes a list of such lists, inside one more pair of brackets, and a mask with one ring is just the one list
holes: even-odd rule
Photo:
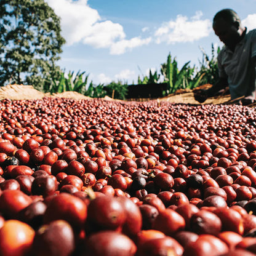
[[201, 20], [202, 12], [196, 12], [196, 15], [188, 20], [188, 17], [177, 15], [176, 20], [165, 22], [156, 30], [156, 42], [167, 42], [174, 44], [175, 42], [193, 42], [198, 39], [209, 36], [212, 31], [212, 23], [210, 20]]

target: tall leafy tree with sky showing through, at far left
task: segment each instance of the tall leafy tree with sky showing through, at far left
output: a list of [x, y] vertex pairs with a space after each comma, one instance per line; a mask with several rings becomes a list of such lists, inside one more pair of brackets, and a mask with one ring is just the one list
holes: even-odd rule
[[0, 85], [31, 84], [48, 91], [58, 79], [65, 39], [60, 19], [44, 0], [0, 1]]

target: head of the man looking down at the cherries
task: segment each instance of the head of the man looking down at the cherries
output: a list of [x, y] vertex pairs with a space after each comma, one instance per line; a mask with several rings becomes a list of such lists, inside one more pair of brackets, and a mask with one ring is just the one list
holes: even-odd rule
[[223, 9], [214, 16], [213, 28], [215, 34], [226, 46], [234, 49], [241, 40], [245, 28], [241, 25], [238, 14], [231, 9]]

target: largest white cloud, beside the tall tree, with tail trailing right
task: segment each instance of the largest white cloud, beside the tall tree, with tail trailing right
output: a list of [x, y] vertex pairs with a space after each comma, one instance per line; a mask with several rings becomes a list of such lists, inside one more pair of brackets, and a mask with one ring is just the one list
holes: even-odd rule
[[125, 39], [122, 25], [111, 20], [102, 21], [97, 10], [87, 0], [47, 0], [61, 18], [62, 35], [68, 46], [82, 42], [95, 48], [110, 48], [110, 54], [124, 54], [126, 50], [150, 42], [149, 38]]

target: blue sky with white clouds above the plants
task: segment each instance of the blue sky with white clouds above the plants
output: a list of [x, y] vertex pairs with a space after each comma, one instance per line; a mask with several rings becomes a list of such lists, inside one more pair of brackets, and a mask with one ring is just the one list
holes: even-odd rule
[[238, 12], [242, 24], [256, 28], [256, 0], [46, 0], [61, 18], [66, 39], [58, 65], [86, 71], [89, 81], [137, 83], [149, 70], [160, 73], [167, 55], [181, 68], [199, 66], [200, 47], [222, 46], [212, 30], [218, 10]]

